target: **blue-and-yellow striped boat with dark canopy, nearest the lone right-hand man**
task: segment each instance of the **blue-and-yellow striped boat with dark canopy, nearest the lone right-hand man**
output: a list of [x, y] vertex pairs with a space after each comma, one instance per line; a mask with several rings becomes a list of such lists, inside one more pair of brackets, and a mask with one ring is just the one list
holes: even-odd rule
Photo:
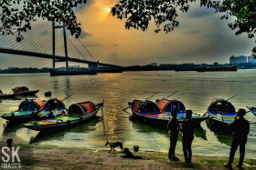
[[210, 128], [229, 133], [230, 125], [236, 119], [236, 111], [228, 100], [215, 98], [208, 106], [205, 116], [208, 116], [207, 123]]

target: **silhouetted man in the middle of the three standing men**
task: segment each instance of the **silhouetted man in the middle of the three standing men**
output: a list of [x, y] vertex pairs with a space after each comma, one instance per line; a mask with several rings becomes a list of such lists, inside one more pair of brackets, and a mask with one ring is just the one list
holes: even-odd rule
[[192, 150], [191, 145], [194, 139], [194, 122], [191, 119], [192, 111], [187, 110], [186, 119], [184, 119], [183, 124], [181, 126], [181, 131], [183, 133], [182, 136], [182, 146], [183, 153], [185, 156], [185, 161], [187, 163], [191, 163]]

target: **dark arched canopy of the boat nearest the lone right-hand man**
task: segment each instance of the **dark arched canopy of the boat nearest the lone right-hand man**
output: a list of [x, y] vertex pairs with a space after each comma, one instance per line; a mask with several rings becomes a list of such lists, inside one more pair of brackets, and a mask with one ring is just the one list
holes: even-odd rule
[[213, 99], [208, 106], [208, 111], [216, 112], [235, 112], [235, 107], [229, 101], [224, 99]]

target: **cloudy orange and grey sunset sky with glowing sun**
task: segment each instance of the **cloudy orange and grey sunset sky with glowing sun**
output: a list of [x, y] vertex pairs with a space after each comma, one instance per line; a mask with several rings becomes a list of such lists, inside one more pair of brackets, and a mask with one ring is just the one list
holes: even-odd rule
[[[125, 29], [124, 20], [113, 17], [115, 0], [89, 0], [75, 9], [81, 24], [81, 41], [96, 60], [114, 65], [150, 63], [229, 63], [231, 55], [251, 55], [255, 39], [235, 35], [229, 21], [220, 20], [214, 10], [191, 5], [188, 13], [179, 13], [179, 26], [169, 34], [155, 34], [152, 22], [147, 31]], [[43, 34], [42, 34], [43, 35]], [[0, 54], [0, 68], [50, 67], [52, 61], [37, 57]], [[78, 64], [70, 64], [78, 65]], [[58, 64], [61, 66], [61, 64]]]

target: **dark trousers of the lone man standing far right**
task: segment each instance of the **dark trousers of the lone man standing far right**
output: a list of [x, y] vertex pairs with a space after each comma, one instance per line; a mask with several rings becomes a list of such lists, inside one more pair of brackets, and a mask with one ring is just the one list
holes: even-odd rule
[[239, 164], [242, 165], [243, 159], [244, 159], [244, 154], [245, 154], [246, 143], [247, 143], [247, 138], [246, 139], [241, 139], [239, 137], [233, 138], [232, 145], [230, 148], [229, 165], [231, 165], [234, 161], [234, 156], [236, 154], [238, 146], [240, 146], [240, 162], [239, 162]]

